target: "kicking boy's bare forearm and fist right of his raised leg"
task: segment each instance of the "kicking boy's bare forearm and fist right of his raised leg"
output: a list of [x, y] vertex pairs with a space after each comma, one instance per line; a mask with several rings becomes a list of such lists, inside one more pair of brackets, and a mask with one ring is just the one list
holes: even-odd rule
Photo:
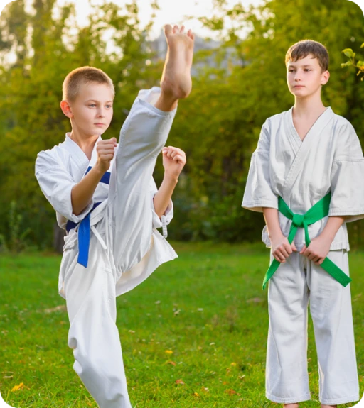
[[168, 146], [168, 148], [163, 148], [162, 154], [164, 179], [153, 199], [154, 211], [159, 218], [165, 214], [177, 185], [178, 177], [186, 164], [186, 154], [181, 149]]

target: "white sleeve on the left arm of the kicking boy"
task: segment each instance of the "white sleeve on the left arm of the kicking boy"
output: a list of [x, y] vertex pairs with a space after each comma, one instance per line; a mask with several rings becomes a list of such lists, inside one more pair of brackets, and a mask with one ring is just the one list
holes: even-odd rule
[[65, 170], [65, 167], [45, 151], [38, 153], [36, 178], [45, 198], [48, 199], [55, 211], [66, 219], [78, 223], [92, 209], [93, 200], [90, 201], [81, 214], [77, 216], [73, 214], [71, 190], [77, 183], [70, 173]]

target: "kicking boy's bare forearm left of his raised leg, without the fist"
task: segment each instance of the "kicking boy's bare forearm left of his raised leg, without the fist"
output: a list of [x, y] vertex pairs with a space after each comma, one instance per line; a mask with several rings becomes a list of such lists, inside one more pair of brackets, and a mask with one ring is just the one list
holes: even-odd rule
[[104, 173], [95, 165], [80, 182], [75, 184], [71, 191], [73, 214], [79, 215], [87, 207]]

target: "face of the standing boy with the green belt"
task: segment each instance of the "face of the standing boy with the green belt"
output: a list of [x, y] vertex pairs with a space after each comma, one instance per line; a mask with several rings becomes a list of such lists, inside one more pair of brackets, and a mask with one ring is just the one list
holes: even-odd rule
[[295, 97], [305, 98], [320, 92], [321, 85], [328, 82], [330, 74], [322, 71], [319, 60], [312, 54], [287, 63], [287, 84]]

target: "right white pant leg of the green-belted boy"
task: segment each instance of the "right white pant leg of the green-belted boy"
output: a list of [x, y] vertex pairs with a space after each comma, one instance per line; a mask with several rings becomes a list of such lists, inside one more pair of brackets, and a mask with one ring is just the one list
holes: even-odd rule
[[[346, 250], [328, 253], [349, 274]], [[350, 285], [343, 287], [319, 265], [309, 261], [310, 309], [319, 358], [320, 402], [334, 406], [358, 401]]]

